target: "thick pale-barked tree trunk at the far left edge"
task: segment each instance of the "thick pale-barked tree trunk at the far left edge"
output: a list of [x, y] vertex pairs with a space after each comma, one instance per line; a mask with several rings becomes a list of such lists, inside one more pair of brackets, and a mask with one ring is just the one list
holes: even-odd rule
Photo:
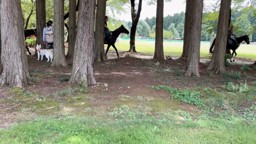
[[22, 87], [31, 83], [22, 23], [20, 0], [1, 1], [1, 39], [3, 72], [0, 85]]

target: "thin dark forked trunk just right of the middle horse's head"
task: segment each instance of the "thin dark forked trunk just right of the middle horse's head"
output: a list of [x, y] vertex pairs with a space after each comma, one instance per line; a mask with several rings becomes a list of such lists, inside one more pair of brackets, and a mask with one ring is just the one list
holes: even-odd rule
[[136, 10], [135, 10], [135, 0], [131, 0], [132, 27], [131, 27], [131, 33], [130, 33], [130, 49], [129, 49], [129, 52], [132, 52], [132, 51], [137, 52], [135, 50], [135, 33], [136, 33], [137, 24], [139, 22], [141, 6], [142, 6], [142, 0], [139, 0], [138, 11], [137, 11], [137, 13], [135, 13], [136, 12]]

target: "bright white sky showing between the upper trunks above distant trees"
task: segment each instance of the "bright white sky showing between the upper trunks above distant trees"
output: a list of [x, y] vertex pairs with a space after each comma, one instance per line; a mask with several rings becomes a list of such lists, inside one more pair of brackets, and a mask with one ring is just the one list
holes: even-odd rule
[[[214, 0], [204, 0], [204, 3], [206, 3], [206, 5], [209, 5], [213, 2]], [[116, 17], [120, 20], [131, 21], [130, 6], [127, 6], [125, 9], [127, 10], [126, 14], [116, 15]], [[185, 12], [185, 9], [185, 0], [172, 0], [169, 3], [164, 2], [163, 16], [167, 16], [168, 14], [173, 15], [174, 13], [180, 13], [181, 11]], [[139, 19], [144, 20], [146, 17], [151, 18], [153, 16], [156, 16], [156, 10], [156, 5], [148, 6], [146, 1], [143, 0]]]

